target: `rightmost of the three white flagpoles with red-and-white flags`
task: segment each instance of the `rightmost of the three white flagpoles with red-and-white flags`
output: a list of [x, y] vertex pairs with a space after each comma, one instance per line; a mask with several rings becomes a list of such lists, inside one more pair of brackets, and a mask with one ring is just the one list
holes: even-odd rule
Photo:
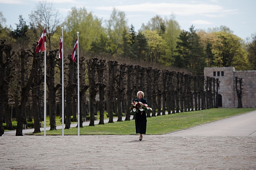
[[80, 91], [79, 91], [79, 32], [77, 31], [77, 134], [80, 135]]

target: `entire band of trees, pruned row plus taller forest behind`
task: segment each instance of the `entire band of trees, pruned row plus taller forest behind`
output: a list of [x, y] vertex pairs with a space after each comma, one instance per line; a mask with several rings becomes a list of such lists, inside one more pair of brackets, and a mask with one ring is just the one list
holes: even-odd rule
[[[45, 24], [51, 130], [56, 129], [55, 102], [61, 101], [61, 60], [57, 57], [61, 27], [64, 27], [66, 129], [70, 128], [71, 115], [76, 118], [72, 107], [77, 102], [78, 92], [74, 88], [77, 86], [77, 62], [71, 60], [70, 54], [77, 31], [80, 32], [79, 93], [82, 96], [79, 109], [83, 113], [81, 116], [88, 114], [85, 103], [90, 101], [90, 125], [94, 125], [96, 94], [99, 94], [100, 108], [104, 108], [104, 103], [115, 105], [108, 107], [110, 122], [113, 112], [119, 115], [119, 120], [122, 113], [129, 115], [128, 104], [138, 90], [145, 91], [154, 108], [153, 116], [160, 115], [161, 110], [165, 114], [165, 109], [168, 113], [193, 111], [194, 108], [217, 106], [218, 81], [201, 76], [204, 67], [234, 66], [236, 70], [256, 70], [256, 35], [245, 42], [226, 26], [205, 31], [196, 30], [192, 25], [186, 31], [180, 29], [174, 16], [161, 18], [157, 15], [136, 32], [133, 25], [127, 25], [125, 13], [115, 8], [110, 19], [102, 21], [85, 8], [76, 7], [61, 22], [58, 12], [48, 2], [39, 2], [29, 17], [27, 24], [20, 15], [17, 28], [12, 29], [5, 26], [6, 19], [0, 12], [0, 129], [3, 130], [3, 120], [8, 129], [12, 129], [7, 108], [13, 102], [19, 108], [16, 135], [22, 135], [22, 126], [27, 121], [25, 107], [30, 105], [33, 106], [34, 115], [31, 116], [35, 121], [35, 133], [40, 132], [44, 65], [43, 53], [35, 53], [35, 47]], [[102, 114], [101, 109], [100, 123], [103, 123]]]

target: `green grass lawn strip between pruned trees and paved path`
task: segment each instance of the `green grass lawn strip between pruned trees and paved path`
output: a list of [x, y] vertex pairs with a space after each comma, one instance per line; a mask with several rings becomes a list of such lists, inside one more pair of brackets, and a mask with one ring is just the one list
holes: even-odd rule
[[[147, 118], [147, 135], [165, 134], [168, 132], [186, 129], [196, 125], [213, 122], [226, 117], [254, 111], [256, 108], [219, 108], [202, 111], [189, 111], [171, 115]], [[46, 131], [46, 135], [61, 135], [62, 129]], [[65, 135], [77, 135], [78, 129], [64, 129]], [[32, 133], [30, 134], [32, 135]], [[43, 135], [43, 132], [33, 134]], [[104, 125], [84, 126], [80, 128], [80, 135], [135, 135], [134, 120], [106, 123]]]

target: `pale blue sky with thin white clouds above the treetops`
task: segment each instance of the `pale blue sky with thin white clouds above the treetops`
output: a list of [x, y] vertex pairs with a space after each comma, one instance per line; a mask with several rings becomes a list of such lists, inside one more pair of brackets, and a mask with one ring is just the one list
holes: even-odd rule
[[[6, 18], [6, 26], [16, 29], [18, 17], [22, 15], [29, 24], [29, 14], [36, 9], [40, 0], [0, 0], [0, 12]], [[142, 23], [156, 15], [162, 18], [175, 16], [181, 29], [195, 29], [227, 26], [234, 35], [242, 39], [256, 34], [256, 0], [47, 0], [59, 11], [62, 21], [71, 7], [85, 7], [98, 18], [110, 19], [113, 7], [125, 12], [128, 26], [134, 25], [135, 31]]]

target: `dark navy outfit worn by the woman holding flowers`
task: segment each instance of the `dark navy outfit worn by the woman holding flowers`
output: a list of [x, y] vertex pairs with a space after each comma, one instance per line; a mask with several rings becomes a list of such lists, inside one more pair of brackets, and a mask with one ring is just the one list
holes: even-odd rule
[[[134, 101], [139, 102], [138, 99]], [[143, 104], [147, 104], [146, 99], [142, 98], [140, 101]], [[135, 128], [136, 134], [146, 134], [146, 111], [141, 111], [135, 113]]]

